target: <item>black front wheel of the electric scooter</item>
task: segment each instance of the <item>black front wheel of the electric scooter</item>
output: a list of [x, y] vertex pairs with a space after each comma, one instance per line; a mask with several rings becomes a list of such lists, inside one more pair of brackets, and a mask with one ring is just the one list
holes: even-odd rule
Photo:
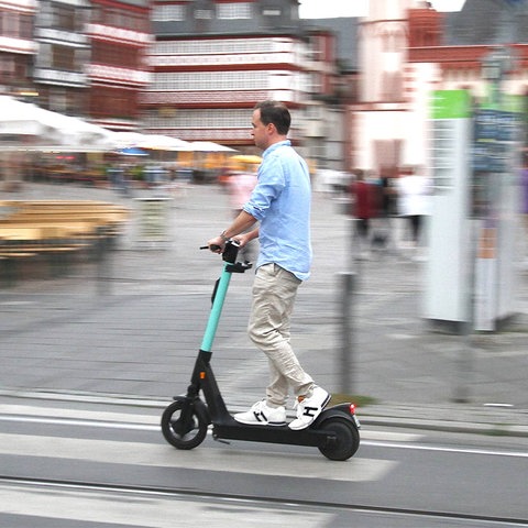
[[207, 436], [208, 426], [196, 407], [185, 400], [173, 402], [162, 415], [163, 436], [177, 449], [188, 450], [199, 446]]

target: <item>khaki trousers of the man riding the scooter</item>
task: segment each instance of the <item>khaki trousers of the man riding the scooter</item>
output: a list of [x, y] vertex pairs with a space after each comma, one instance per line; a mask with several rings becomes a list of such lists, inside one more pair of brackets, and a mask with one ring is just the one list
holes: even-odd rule
[[308, 394], [314, 380], [302, 370], [289, 344], [290, 319], [301, 280], [277, 264], [256, 271], [249, 336], [268, 359], [270, 385], [266, 399], [271, 407], [286, 405], [289, 387], [296, 396]]

